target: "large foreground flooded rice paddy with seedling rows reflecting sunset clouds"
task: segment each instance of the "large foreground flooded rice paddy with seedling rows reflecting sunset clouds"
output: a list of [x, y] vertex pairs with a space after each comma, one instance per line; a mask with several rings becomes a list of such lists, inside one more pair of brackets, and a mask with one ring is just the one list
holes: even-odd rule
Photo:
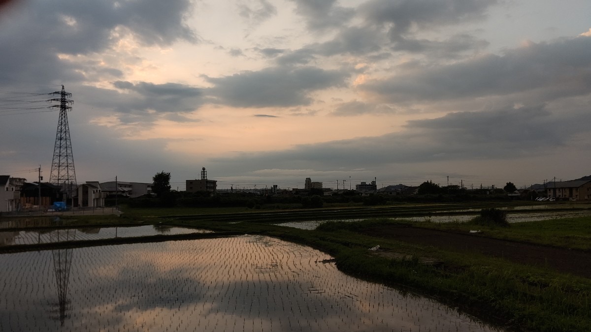
[[262, 236], [0, 255], [0, 331], [498, 331]]

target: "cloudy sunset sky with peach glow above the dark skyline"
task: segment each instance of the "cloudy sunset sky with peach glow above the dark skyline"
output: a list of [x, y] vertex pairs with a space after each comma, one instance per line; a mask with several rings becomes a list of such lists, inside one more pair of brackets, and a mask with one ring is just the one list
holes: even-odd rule
[[0, 174], [48, 180], [62, 84], [78, 183], [591, 174], [588, 0], [13, 0]]

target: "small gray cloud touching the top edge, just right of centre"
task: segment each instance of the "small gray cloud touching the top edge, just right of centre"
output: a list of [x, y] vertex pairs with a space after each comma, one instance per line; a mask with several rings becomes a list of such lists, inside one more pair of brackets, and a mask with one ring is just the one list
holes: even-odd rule
[[342, 27], [355, 14], [353, 8], [336, 5], [336, 0], [292, 0], [296, 13], [304, 17], [313, 31]]

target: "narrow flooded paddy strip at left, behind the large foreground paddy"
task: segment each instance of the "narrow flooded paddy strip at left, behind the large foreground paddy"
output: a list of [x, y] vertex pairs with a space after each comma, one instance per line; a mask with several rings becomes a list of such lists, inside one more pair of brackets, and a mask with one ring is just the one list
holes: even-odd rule
[[178, 235], [212, 233], [210, 230], [158, 225], [132, 227], [79, 227], [76, 229], [20, 230], [0, 232], [0, 246], [33, 245], [77, 240], [103, 240], [115, 237], [139, 237], [152, 235]]

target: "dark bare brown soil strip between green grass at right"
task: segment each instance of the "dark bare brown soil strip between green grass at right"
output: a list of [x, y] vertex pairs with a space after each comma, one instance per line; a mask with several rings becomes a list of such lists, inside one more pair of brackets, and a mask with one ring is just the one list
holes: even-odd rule
[[591, 278], [591, 252], [491, 239], [475, 234], [442, 232], [408, 226], [380, 226], [363, 233], [459, 252], [479, 252], [510, 261], [548, 266], [560, 272]]

